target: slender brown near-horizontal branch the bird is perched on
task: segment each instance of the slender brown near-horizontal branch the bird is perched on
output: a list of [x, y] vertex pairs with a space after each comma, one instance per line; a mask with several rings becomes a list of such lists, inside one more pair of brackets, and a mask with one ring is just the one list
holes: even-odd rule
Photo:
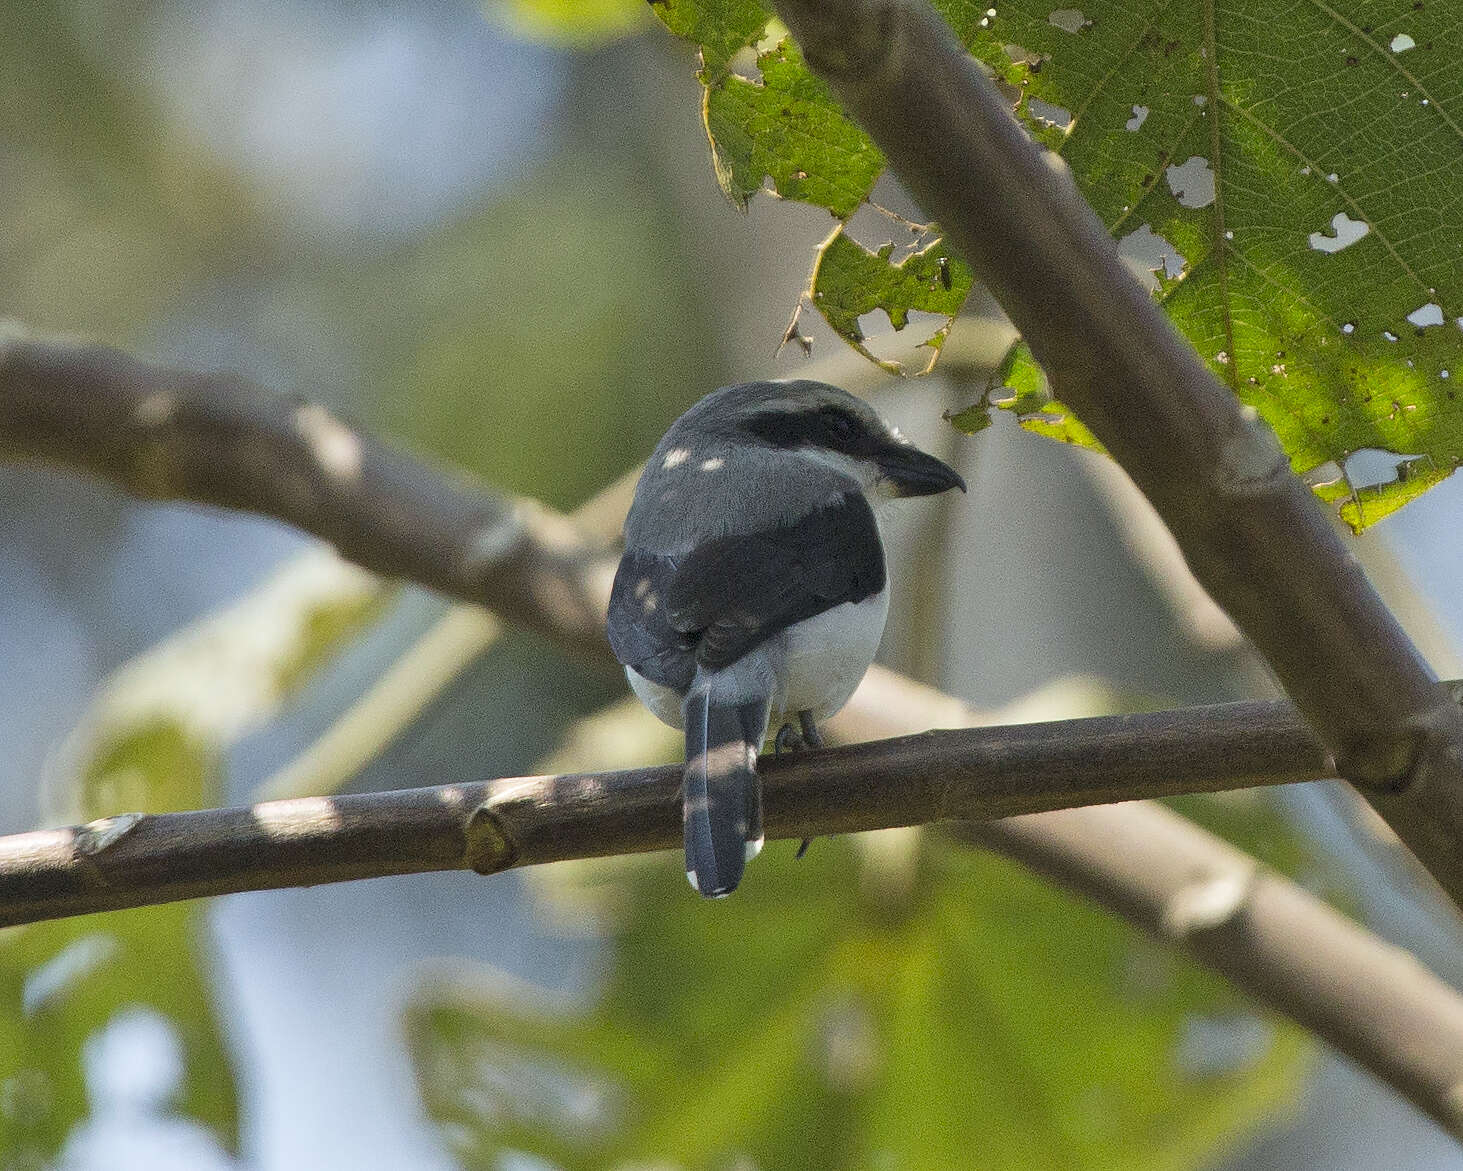
[[[1283, 703], [923, 732], [765, 758], [770, 837], [1285, 785], [1330, 761]], [[386, 874], [680, 845], [680, 767], [123, 814], [0, 839], [0, 927]]]

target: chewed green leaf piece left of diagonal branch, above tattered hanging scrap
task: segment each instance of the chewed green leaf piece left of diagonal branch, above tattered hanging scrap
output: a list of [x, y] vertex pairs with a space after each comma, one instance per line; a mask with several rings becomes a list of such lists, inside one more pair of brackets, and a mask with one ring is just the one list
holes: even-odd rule
[[884, 170], [884, 155], [844, 117], [791, 41], [756, 63], [761, 82], [729, 75], [707, 89], [707, 135], [721, 189], [745, 206], [770, 177], [786, 199], [828, 208], [840, 220], [853, 215]]

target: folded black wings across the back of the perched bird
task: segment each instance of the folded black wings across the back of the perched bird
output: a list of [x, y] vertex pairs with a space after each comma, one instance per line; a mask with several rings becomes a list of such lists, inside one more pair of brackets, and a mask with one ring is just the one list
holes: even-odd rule
[[884, 588], [873, 511], [849, 492], [802, 520], [718, 537], [673, 561], [631, 550], [610, 596], [610, 644], [647, 679], [685, 691], [805, 618]]

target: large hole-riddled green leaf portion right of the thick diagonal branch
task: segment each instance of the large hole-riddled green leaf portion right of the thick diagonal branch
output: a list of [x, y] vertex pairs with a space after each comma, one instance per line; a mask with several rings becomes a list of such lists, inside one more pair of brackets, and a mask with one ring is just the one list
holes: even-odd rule
[[[1203, 7], [1162, 3], [1081, 15], [1074, 32], [1049, 6], [1002, 4], [974, 51], [1009, 64], [1014, 42], [1042, 57], [1021, 66], [1023, 108], [1074, 111], [1065, 136], [1037, 133], [1097, 214], [1182, 255], [1157, 291], [1175, 323], [1296, 471], [1344, 467], [1361, 448], [1429, 460], [1423, 477], [1349, 499], [1355, 527], [1443, 479], [1463, 454], [1443, 375], [1463, 362], [1457, 6], [1312, 0], [1255, 20], [1232, 0], [1210, 25]], [[1402, 32], [1415, 51], [1390, 47]]]

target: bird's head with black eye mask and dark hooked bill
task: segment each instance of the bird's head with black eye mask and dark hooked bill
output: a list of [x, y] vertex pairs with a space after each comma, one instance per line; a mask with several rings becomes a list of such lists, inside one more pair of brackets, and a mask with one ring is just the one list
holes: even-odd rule
[[[742, 382], [707, 395], [682, 424], [723, 442], [770, 448], [849, 476], [882, 496], [966, 490], [960, 474], [920, 451], [878, 411], [827, 382]], [[669, 438], [669, 436], [667, 436]]]

